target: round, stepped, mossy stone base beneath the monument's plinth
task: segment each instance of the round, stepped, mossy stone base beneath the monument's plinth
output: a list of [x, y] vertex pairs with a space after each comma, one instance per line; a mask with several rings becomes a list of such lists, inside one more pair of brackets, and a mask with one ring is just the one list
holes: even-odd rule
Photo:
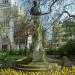
[[32, 72], [39, 72], [39, 71], [51, 71], [51, 70], [60, 70], [60, 67], [57, 64], [44, 64], [44, 63], [31, 63], [29, 65], [21, 65], [19, 64], [17, 67], [15, 67], [17, 70], [23, 70], [23, 71], [32, 71]]

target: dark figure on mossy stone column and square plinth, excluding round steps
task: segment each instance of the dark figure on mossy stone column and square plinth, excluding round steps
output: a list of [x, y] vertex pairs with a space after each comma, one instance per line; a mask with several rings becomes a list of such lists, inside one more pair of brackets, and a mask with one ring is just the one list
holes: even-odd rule
[[34, 6], [31, 8], [31, 15], [33, 17], [33, 61], [45, 61], [45, 51], [42, 46], [42, 26], [40, 25], [39, 12], [37, 2], [33, 1]]

